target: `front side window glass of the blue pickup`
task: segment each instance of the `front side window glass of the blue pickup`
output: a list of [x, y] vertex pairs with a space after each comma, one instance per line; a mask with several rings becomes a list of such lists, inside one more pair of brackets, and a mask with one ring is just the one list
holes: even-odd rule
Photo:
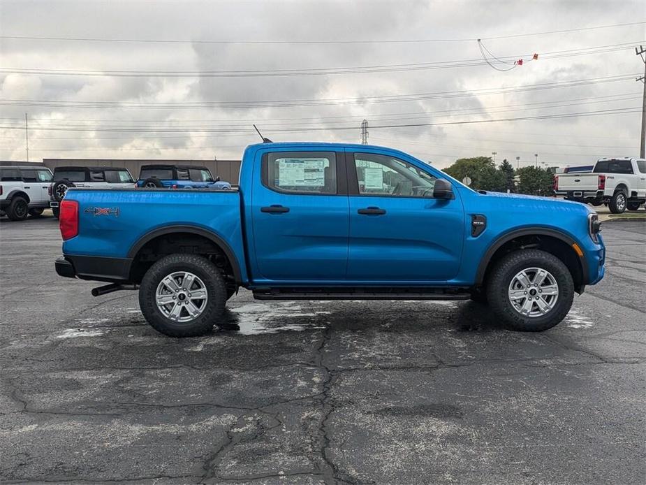
[[359, 194], [431, 197], [436, 178], [405, 161], [372, 153], [355, 153]]

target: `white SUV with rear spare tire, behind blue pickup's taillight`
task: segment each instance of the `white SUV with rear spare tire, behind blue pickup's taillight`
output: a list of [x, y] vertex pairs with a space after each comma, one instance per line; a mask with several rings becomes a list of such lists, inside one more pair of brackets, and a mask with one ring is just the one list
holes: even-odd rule
[[54, 168], [54, 181], [50, 187], [50, 207], [54, 217], [59, 217], [59, 205], [67, 189], [82, 187], [91, 189], [132, 188], [135, 181], [126, 168], [69, 166]]

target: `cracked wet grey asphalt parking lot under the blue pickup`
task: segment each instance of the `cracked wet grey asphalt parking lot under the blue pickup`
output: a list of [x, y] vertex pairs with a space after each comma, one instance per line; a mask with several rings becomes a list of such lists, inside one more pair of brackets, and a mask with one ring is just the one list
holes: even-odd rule
[[261, 303], [156, 333], [0, 220], [0, 482], [643, 484], [646, 222], [545, 333], [471, 302]]

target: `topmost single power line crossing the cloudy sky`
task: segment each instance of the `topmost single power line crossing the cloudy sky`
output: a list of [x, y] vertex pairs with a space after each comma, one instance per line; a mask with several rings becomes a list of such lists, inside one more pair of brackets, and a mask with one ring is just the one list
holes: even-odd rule
[[[519, 38], [529, 36], [541, 36], [552, 34], [566, 34], [568, 32], [580, 32], [596, 29], [612, 29], [616, 27], [630, 27], [633, 25], [643, 25], [645, 22], [626, 22], [623, 24], [606, 24], [596, 25], [593, 27], [576, 27], [573, 29], [540, 31], [524, 34], [507, 34], [502, 36], [480, 36], [479, 38], [486, 40], [504, 39], [504, 38]], [[400, 40], [353, 40], [353, 41], [216, 41], [216, 40], [189, 40], [189, 39], [146, 39], [146, 38], [101, 38], [101, 37], [50, 37], [50, 36], [8, 36], [3, 35], [0, 38], [15, 39], [15, 40], [29, 40], [29, 41], [73, 41], [73, 42], [115, 42], [115, 43], [174, 43], [174, 44], [240, 44], [240, 45], [256, 45], [256, 44], [401, 44], [401, 43], [433, 43], [433, 42], [474, 42], [477, 38], [427, 38], [427, 39], [400, 39]]]

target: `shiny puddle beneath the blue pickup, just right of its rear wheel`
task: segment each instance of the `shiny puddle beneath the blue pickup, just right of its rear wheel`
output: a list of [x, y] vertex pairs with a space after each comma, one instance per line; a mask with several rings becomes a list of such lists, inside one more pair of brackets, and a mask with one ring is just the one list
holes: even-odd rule
[[[228, 310], [230, 319], [220, 326], [222, 331], [231, 331], [240, 335], [260, 335], [284, 331], [304, 331], [325, 328], [321, 317], [330, 314], [318, 310], [322, 305], [313, 305], [303, 309], [293, 301], [268, 305], [266, 303], [247, 303], [241, 307]], [[293, 321], [298, 319], [298, 321]]]

